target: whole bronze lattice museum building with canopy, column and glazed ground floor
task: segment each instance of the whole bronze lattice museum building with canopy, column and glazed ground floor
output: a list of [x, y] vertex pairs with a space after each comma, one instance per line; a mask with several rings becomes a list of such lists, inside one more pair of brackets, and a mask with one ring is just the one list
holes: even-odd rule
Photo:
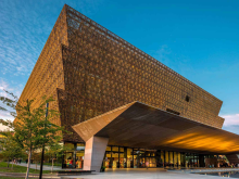
[[203, 167], [239, 152], [221, 100], [66, 4], [20, 102], [43, 95], [71, 131], [63, 168]]

